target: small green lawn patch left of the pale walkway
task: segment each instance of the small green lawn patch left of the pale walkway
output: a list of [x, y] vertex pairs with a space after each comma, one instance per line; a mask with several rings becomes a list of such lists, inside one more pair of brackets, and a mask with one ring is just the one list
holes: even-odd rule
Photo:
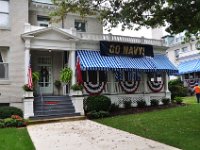
[[26, 128], [3, 128], [0, 129], [0, 135], [2, 150], [35, 149]]

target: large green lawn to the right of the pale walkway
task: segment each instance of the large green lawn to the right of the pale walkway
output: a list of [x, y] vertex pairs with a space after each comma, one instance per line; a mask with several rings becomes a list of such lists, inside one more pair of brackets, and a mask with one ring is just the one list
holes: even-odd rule
[[[194, 104], [194, 97], [184, 102]], [[184, 149], [200, 149], [200, 104], [96, 120], [99, 123]]]

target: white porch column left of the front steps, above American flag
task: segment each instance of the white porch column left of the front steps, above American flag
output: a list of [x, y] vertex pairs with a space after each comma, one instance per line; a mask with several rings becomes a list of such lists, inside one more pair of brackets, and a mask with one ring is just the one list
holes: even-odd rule
[[25, 40], [25, 51], [24, 51], [24, 83], [28, 84], [28, 67], [30, 63], [30, 38]]

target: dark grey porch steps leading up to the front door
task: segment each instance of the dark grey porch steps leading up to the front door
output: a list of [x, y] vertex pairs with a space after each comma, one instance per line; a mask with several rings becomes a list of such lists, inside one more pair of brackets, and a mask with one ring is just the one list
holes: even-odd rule
[[34, 100], [35, 117], [76, 116], [75, 108], [69, 96], [43, 96]]

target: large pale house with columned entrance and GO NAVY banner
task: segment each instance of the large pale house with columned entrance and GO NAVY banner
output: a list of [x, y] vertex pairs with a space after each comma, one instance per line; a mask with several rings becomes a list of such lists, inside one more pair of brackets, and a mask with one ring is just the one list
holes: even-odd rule
[[[61, 23], [49, 23], [54, 9], [49, 0], [0, 0], [0, 106], [22, 108], [24, 116], [83, 115], [83, 99], [103, 94], [113, 103], [170, 98], [168, 77], [177, 73], [165, 56], [163, 40], [102, 34], [95, 16], [84, 20], [76, 14]], [[76, 83], [76, 60], [80, 59], [84, 90]], [[34, 97], [24, 95], [28, 68], [40, 73]], [[57, 89], [60, 71], [73, 71], [70, 84]], [[45, 73], [44, 73], [45, 70]]]

